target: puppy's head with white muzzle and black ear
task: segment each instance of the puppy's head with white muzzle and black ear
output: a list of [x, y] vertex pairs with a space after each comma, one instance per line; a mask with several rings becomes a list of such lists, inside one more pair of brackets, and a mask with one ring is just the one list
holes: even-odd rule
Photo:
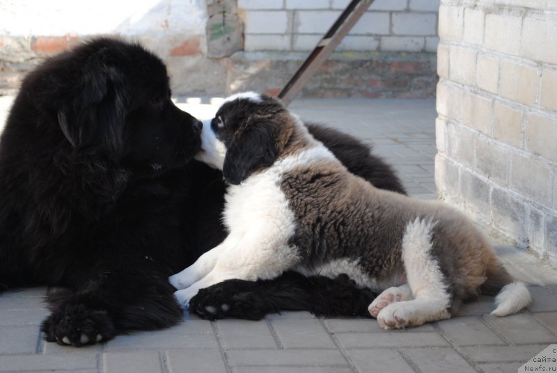
[[253, 92], [228, 97], [210, 125], [203, 127], [196, 159], [223, 171], [230, 184], [271, 166], [293, 130], [285, 107]]

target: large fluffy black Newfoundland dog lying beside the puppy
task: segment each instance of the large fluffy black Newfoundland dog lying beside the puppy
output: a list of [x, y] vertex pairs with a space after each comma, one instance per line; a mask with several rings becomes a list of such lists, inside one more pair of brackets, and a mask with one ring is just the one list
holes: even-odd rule
[[[159, 58], [109, 38], [24, 79], [0, 140], [0, 287], [63, 287], [49, 289], [46, 340], [80, 346], [180, 322], [168, 276], [225, 236], [222, 175], [192, 160], [202, 124], [170, 97]], [[366, 145], [309, 127], [353, 173], [404, 193]], [[285, 273], [203, 289], [190, 308], [212, 319], [365, 315], [372, 296], [345, 276]]]

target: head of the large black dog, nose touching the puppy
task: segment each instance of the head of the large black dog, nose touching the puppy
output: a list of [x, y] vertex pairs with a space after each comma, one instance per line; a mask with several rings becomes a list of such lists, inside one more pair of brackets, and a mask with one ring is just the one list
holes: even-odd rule
[[201, 145], [201, 122], [171, 102], [164, 63], [137, 44], [100, 38], [76, 47], [29, 74], [22, 92], [69, 148], [128, 168], [180, 166]]

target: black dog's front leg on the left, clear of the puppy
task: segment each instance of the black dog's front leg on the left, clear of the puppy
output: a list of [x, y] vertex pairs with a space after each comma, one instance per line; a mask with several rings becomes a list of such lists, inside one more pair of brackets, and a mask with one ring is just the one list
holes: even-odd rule
[[134, 271], [133, 264], [91, 276], [76, 290], [49, 294], [52, 314], [42, 322], [45, 340], [80, 347], [121, 331], [166, 328], [182, 320], [174, 288], [161, 271]]

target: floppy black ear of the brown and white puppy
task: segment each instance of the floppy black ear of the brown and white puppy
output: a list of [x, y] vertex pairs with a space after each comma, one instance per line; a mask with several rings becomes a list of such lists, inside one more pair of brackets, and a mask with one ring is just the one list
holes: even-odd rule
[[224, 180], [238, 185], [254, 171], [271, 166], [281, 151], [276, 135], [272, 126], [260, 123], [244, 129], [226, 150]]

